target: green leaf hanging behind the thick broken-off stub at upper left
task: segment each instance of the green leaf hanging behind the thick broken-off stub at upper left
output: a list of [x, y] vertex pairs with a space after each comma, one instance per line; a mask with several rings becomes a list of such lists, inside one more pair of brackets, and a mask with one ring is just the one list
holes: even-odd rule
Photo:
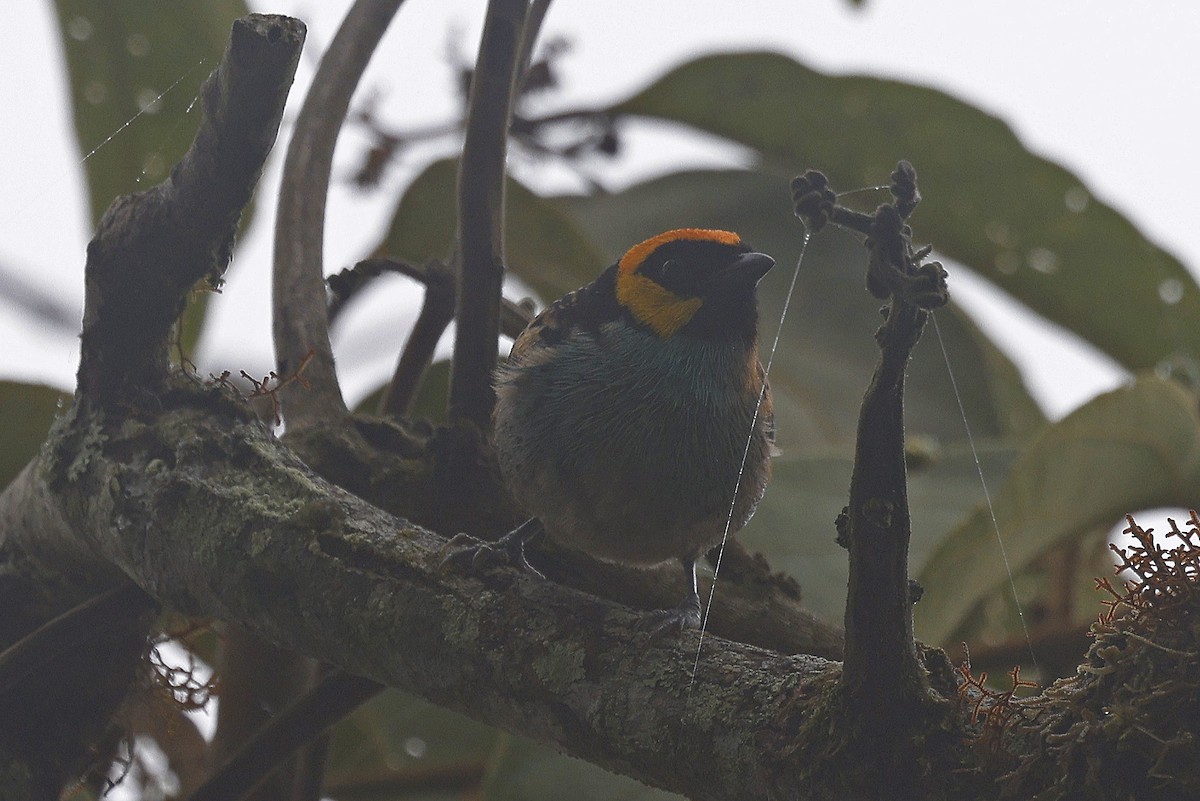
[[[220, 64], [244, 0], [55, 0], [67, 58], [76, 139], [91, 218], [120, 194], [167, 177], [199, 122], [198, 92]], [[242, 224], [252, 210], [246, 209]], [[206, 296], [184, 313], [181, 344], [192, 354]]]

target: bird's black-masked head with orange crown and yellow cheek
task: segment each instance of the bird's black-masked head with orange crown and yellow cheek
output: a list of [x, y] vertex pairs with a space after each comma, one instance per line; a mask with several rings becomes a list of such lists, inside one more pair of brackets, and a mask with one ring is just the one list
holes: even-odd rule
[[670, 230], [629, 248], [617, 263], [617, 302], [664, 339], [754, 342], [755, 289], [774, 264], [730, 231]]

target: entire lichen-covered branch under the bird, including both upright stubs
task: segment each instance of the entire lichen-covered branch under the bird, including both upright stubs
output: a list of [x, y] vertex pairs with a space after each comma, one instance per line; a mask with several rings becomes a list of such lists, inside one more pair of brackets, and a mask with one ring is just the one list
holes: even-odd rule
[[[251, 40], [256, 31], [264, 34], [254, 47], [268, 49], [296, 38], [300, 29], [290, 20], [271, 20], [252, 17], [239, 23], [235, 43], [247, 30]], [[294, 67], [294, 53], [289, 58]], [[227, 56], [227, 61], [236, 59]], [[256, 78], [270, 77], [266, 71], [245, 76], [239, 70], [222, 62], [216, 89], [206, 91], [214, 119], [229, 119], [222, 115], [234, 108], [233, 98], [215, 102], [214, 97], [220, 101], [226, 89], [238, 86], [233, 78], [240, 76], [253, 85]], [[290, 72], [282, 72], [284, 83], [290, 80]], [[220, 234], [228, 230], [232, 236], [236, 219], [230, 198], [248, 197], [250, 188], [241, 180], [260, 169], [264, 130], [274, 132], [281, 108], [278, 100], [258, 116], [238, 118], [241, 125], [259, 126], [257, 134], [245, 131], [236, 139], [244, 143], [235, 150], [245, 159], [233, 159], [232, 165], [221, 159], [209, 163], [202, 152], [190, 151], [166, 188], [121, 199], [106, 216], [89, 248], [90, 331], [85, 336], [90, 341], [80, 368], [80, 403], [56, 421], [41, 454], [0, 494], [0, 567], [7, 571], [19, 554], [68, 572], [78, 582], [116, 584], [128, 578], [154, 600], [185, 614], [235, 621], [266, 640], [362, 676], [368, 680], [364, 688], [371, 688], [370, 681], [401, 687], [701, 800], [874, 797], [883, 793], [991, 797], [997, 777], [1010, 779], [1010, 785], [1019, 783], [1028, 790], [1022, 797], [1032, 797], [1048, 788], [1061, 789], [1064, 776], [1073, 782], [1068, 788], [1096, 785], [1099, 777], [1123, 790], [1122, 776], [1133, 765], [1142, 775], [1129, 788], [1144, 789], [1146, 782], [1160, 782], [1163, 770], [1195, 765], [1196, 683], [1190, 674], [1183, 681], [1175, 677], [1198, 664], [1194, 631], [1186, 624], [1200, 597], [1194, 589], [1200, 535], [1188, 537], [1190, 549], [1171, 552], [1176, 570], [1170, 574], [1154, 573], [1154, 559], [1140, 553], [1126, 556], [1130, 570], [1146, 565], [1154, 570], [1140, 573], [1147, 591], [1128, 590], [1114, 607], [1124, 603], [1138, 609], [1134, 620], [1145, 625], [1135, 631], [1124, 619], [1111, 619], [1097, 638], [1087, 669], [1046, 693], [1045, 716], [1030, 715], [1014, 724], [1019, 712], [1004, 712], [1012, 699], [1002, 697], [992, 706], [1001, 711], [985, 710], [983, 725], [995, 721], [992, 730], [1002, 741], [998, 757], [1018, 759], [1019, 767], [1007, 775], [1012, 759], [976, 760], [966, 753], [962, 737], [970, 729], [971, 704], [953, 706], [946, 700], [954, 695], [955, 683], [944, 657], [917, 652], [912, 644], [911, 594], [904, 570], [904, 464], [896, 458], [896, 450], [902, 451], [900, 392], [907, 351], [919, 333], [924, 309], [944, 291], [944, 275], [936, 264], [920, 264], [924, 253], [910, 247], [904, 218], [916, 204], [916, 187], [904, 191], [907, 179], [914, 179], [904, 167], [895, 176], [896, 203], [881, 207], [870, 229], [868, 285], [894, 300], [881, 336], [876, 389], [864, 406], [869, 408], [862, 424], [866, 435], [860, 436], [859, 447], [882, 442], [888, 452], [874, 462], [862, 460], [842, 526], [852, 550], [854, 596], [847, 604], [851, 639], [845, 670], [815, 656], [784, 656], [718, 638], [709, 640], [692, 675], [694, 633], [647, 639], [636, 632], [641, 620], [636, 612], [511, 570], [478, 577], [445, 574], [439, 570], [443, 537], [364, 500], [380, 492], [378, 480], [391, 477], [385, 469], [392, 463], [371, 462], [370, 475], [359, 476], [360, 483], [354, 484], [355, 493], [361, 484], [362, 496], [352, 494], [313, 472], [240, 399], [229, 397], [223, 385], [200, 387], [167, 374], [160, 353], [169, 327], [169, 320], [162, 321], [163, 308], [179, 307], [190, 276], [208, 275], [212, 264], [223, 266], [220, 257], [228, 239]], [[215, 141], [228, 141], [216, 135], [221, 131], [210, 133]], [[197, 137], [193, 150], [211, 145], [202, 141], [205, 135]], [[215, 151], [226, 152], [220, 146]], [[200, 164], [211, 167], [210, 174], [200, 174]], [[211, 186], [203, 186], [205, 180]], [[820, 191], [805, 193], [810, 195], [823, 203]], [[181, 227], [175, 204], [196, 216], [188, 218], [192, 227]], [[164, 269], [175, 263], [181, 265], [178, 271]], [[149, 269], [151, 264], [158, 265], [158, 272]], [[131, 288], [145, 289], [146, 296], [126, 297], [118, 291]], [[148, 317], [139, 320], [137, 314]], [[131, 351], [119, 351], [116, 347], [126, 341]], [[493, 345], [494, 339], [488, 345], [494, 353]], [[142, 385], [140, 379], [149, 383]], [[475, 420], [466, 414], [462, 418]], [[496, 523], [497, 514], [488, 518], [481, 510], [490, 507], [474, 498], [468, 511], [455, 507], [451, 501], [461, 499], [462, 487], [473, 484], [448, 469], [448, 460], [440, 458], [444, 451], [437, 450], [446, 441], [461, 446], [463, 430], [470, 427], [439, 429], [421, 440], [398, 424], [349, 417], [335, 422], [338, 426], [316, 430], [344, 435], [347, 441], [350, 434], [364, 440], [370, 434], [377, 438], [373, 441], [408, 452], [410, 471], [421, 475], [406, 476], [410, 482], [406, 489], [424, 487], [425, 493], [403, 502], [437, 506], [430, 514], [442, 520], [475, 514], [480, 525]], [[876, 424], [888, 429], [877, 439]], [[296, 438], [301, 446], [322, 441], [313, 429], [299, 428], [308, 436]], [[344, 456], [326, 453], [331, 460]], [[482, 458], [468, 466], [480, 474], [488, 470]], [[1154, 550], [1148, 532], [1141, 534], [1145, 554], [1153, 553], [1163, 562], [1165, 552]], [[754, 564], [739, 567], [755, 580], [761, 578]], [[11, 576], [0, 572], [0, 591], [11, 594]], [[781, 592], [784, 584], [776, 588]], [[880, 597], [872, 600], [871, 594]], [[1170, 603], [1158, 613], [1156, 603], [1164, 597]], [[83, 688], [84, 694], [60, 700], [89, 711], [110, 709], [127, 691], [128, 674], [145, 644], [149, 624], [139, 610], [145, 604], [112, 628], [96, 631], [97, 650], [120, 656], [116, 669], [106, 668], [102, 685], [89, 683], [92, 674], [84, 670], [67, 682], [52, 676], [48, 687], [32, 687], [29, 698], [40, 701], [43, 689], [54, 687]], [[881, 643], [864, 639], [876, 633]], [[1122, 656], [1122, 649], [1141, 654]], [[13, 654], [16, 663], [22, 651]], [[872, 658], [877, 662], [871, 663]], [[904, 664], [906, 660], [911, 667]], [[889, 676], [892, 670], [900, 676]], [[29, 673], [23, 669], [22, 676]], [[913, 674], [918, 674], [916, 681], [911, 681]], [[1138, 692], [1146, 676], [1165, 676], [1175, 683], [1169, 698], [1182, 712], [1178, 722], [1170, 722], [1174, 728], [1141, 725], [1138, 710], [1146, 698]], [[1152, 683], [1150, 689], [1158, 693], [1159, 686]], [[1150, 698], [1158, 697], [1153, 693]], [[1112, 698], [1120, 705], [1110, 704]], [[898, 710], [906, 709], [914, 715], [905, 727], [910, 739], [900, 741], [892, 735], [899, 728]], [[54, 715], [43, 718], [58, 721]], [[1006, 725], [1019, 730], [1006, 734]], [[0, 735], [5, 734], [0, 727]], [[846, 748], [847, 743], [853, 747]], [[864, 745], [878, 749], [864, 751]], [[1098, 747], [1106, 755], [1106, 764], [1100, 765], [1106, 772], [1092, 775]], [[53, 795], [58, 788], [46, 777], [61, 775], [62, 766], [54, 766], [59, 773], [38, 775], [35, 782], [30, 765], [61, 752], [53, 746], [41, 752], [31, 753], [30, 742], [0, 736], [5, 787], [23, 782], [24, 791]], [[898, 770], [881, 770], [888, 767]], [[1080, 781], [1078, 775], [1085, 772]], [[1177, 783], [1183, 785], [1182, 779]]]

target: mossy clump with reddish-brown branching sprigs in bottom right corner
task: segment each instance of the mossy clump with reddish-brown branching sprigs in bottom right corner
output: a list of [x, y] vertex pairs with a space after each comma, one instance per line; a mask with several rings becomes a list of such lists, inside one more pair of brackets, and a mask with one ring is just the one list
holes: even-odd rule
[[1112, 547], [1127, 578], [1097, 580], [1109, 597], [1084, 664], [1020, 715], [986, 713], [1024, 754], [1012, 797], [1200, 797], [1200, 519], [1165, 536], [1127, 519], [1134, 543]]

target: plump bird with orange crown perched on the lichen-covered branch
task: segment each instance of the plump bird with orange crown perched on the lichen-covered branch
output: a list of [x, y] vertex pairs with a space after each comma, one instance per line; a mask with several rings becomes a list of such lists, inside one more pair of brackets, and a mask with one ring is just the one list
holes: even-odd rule
[[524, 544], [634, 567], [678, 562], [689, 591], [653, 631], [696, 628], [696, 562], [754, 514], [774, 415], [758, 357], [757, 285], [774, 259], [726, 230], [682, 228], [629, 248], [551, 303], [494, 374], [493, 444], [532, 517], [449, 560], [538, 573]]

